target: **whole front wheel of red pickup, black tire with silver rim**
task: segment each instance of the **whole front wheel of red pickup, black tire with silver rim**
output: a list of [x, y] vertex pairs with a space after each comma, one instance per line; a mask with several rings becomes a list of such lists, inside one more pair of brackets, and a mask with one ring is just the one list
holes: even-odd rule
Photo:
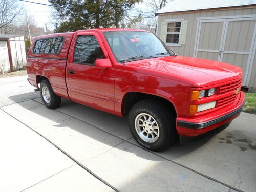
[[137, 102], [130, 110], [128, 120], [133, 137], [148, 150], [165, 150], [178, 138], [175, 114], [162, 102]]

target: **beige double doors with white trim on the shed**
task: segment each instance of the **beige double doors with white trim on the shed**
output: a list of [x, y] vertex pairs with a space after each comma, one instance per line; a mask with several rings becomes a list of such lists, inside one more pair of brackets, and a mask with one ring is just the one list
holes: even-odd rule
[[194, 56], [239, 66], [244, 72], [243, 86], [256, 87], [252, 76], [255, 24], [255, 17], [200, 20]]

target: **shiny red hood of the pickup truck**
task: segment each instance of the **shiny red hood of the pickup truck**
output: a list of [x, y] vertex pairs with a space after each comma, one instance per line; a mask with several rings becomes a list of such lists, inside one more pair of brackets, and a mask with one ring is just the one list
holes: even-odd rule
[[147, 68], [151, 72], [155, 72], [154, 75], [165, 78], [177, 78], [179, 76], [178, 78], [183, 79], [183, 82], [189, 82], [196, 87], [210, 86], [242, 77], [242, 69], [237, 66], [183, 56], [137, 60], [129, 62], [127, 65], [135, 68]]

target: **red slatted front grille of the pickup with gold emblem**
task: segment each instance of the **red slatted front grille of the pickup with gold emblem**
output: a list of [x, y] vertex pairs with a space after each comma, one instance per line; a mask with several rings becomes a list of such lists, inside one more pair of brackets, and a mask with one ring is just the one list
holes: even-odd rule
[[227, 97], [219, 99], [217, 107], [225, 106], [225, 105], [228, 105], [228, 104], [234, 102], [237, 99], [237, 97], [238, 97], [238, 94], [236, 94], [235, 91], [238, 88], [240, 88], [241, 85], [242, 85], [242, 78], [239, 79], [239, 80], [227, 83], [227, 84], [223, 84], [220, 87], [220, 95], [221, 94], [225, 94], [225, 93], [233, 93], [233, 94], [231, 94], [231, 95], [229, 95]]

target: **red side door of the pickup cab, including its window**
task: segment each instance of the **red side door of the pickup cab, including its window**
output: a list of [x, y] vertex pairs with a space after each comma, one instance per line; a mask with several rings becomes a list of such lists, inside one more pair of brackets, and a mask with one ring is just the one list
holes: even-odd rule
[[66, 68], [69, 97], [75, 102], [115, 113], [115, 69], [96, 67], [96, 59], [108, 60], [100, 36], [95, 32], [77, 33]]

